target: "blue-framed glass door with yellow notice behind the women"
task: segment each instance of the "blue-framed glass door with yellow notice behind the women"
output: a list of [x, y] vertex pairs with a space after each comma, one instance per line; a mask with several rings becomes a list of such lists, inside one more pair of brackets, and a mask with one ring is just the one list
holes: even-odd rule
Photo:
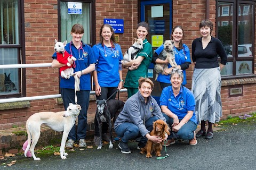
[[[153, 54], [155, 49], [161, 46], [164, 40], [170, 39], [172, 30], [172, 1], [140, 1], [140, 21], [149, 24], [147, 39], [152, 45]], [[148, 77], [154, 82], [152, 96], [159, 104], [162, 90], [158, 81], [155, 81], [154, 64], [151, 63], [148, 69]]]

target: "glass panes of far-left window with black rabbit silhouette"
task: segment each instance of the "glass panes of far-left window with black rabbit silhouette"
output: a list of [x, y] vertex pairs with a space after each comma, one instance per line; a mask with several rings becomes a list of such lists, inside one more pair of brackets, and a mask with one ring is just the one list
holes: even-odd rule
[[[21, 61], [20, 3], [0, 1], [0, 65]], [[0, 69], [0, 98], [20, 96], [20, 86], [20, 69]]]

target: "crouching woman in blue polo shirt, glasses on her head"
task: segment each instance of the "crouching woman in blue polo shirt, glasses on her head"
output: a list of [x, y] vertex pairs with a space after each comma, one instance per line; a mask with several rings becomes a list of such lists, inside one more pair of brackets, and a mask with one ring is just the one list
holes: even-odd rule
[[[160, 106], [172, 132], [177, 133], [183, 140], [189, 140], [189, 145], [196, 145], [195, 98], [189, 89], [182, 86], [182, 81], [182, 70], [173, 69], [171, 71], [172, 86], [163, 89]], [[175, 143], [172, 135], [170, 136], [166, 146]]]

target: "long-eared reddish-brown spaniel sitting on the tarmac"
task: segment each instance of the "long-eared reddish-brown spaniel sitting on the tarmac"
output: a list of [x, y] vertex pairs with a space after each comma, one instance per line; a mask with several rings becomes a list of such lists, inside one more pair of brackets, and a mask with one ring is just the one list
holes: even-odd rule
[[[164, 122], [163, 120], [157, 120], [155, 122], [153, 122], [153, 130], [150, 132], [150, 135], [156, 135], [161, 137], [162, 139], [165, 138], [165, 133], [167, 133], [168, 135], [170, 135], [170, 128], [167, 125], [166, 122]], [[141, 149], [140, 154], [145, 154], [145, 152], [147, 151], [147, 158], [151, 158], [152, 152], [156, 152], [156, 156], [161, 156], [161, 151], [163, 148], [164, 141], [162, 141], [161, 143], [154, 143], [151, 140], [147, 141], [147, 144], [144, 148]]]

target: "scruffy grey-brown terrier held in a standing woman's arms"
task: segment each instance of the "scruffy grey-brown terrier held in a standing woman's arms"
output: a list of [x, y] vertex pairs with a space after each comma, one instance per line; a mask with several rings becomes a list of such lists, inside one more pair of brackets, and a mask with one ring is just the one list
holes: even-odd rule
[[[177, 67], [177, 63], [175, 62], [175, 56], [173, 52], [173, 41], [172, 40], [165, 40], [164, 41], [164, 50], [158, 55], [158, 58], [161, 60], [167, 60], [171, 64], [172, 67]], [[158, 77], [158, 74], [163, 74], [164, 69], [167, 69], [168, 65], [167, 64], [156, 64], [154, 69], [156, 71], [156, 79]], [[156, 80], [155, 79], [155, 80]]]

